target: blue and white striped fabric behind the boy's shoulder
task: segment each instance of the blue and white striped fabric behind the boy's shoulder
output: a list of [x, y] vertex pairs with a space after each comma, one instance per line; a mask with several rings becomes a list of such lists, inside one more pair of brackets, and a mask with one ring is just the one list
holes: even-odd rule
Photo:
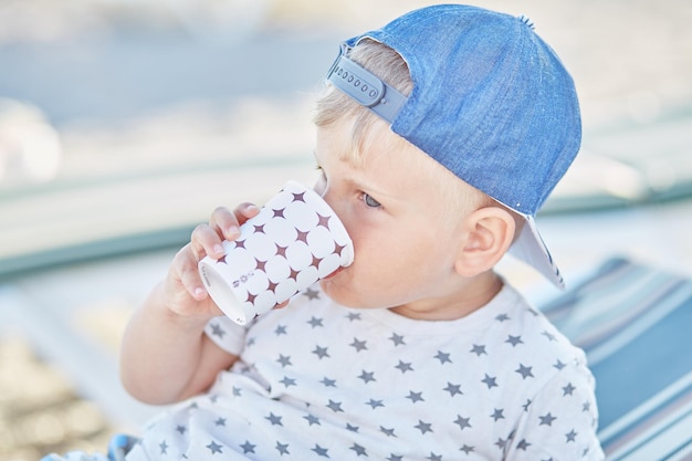
[[596, 376], [608, 461], [692, 460], [692, 281], [605, 262], [541, 308]]

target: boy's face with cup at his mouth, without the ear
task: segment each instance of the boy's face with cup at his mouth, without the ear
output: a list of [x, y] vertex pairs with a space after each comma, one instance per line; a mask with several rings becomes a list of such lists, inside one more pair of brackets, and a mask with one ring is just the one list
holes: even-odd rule
[[346, 151], [349, 133], [348, 121], [317, 128], [315, 157], [323, 176], [315, 189], [355, 248], [354, 263], [323, 280], [322, 287], [350, 307], [438, 316], [459, 286], [454, 261], [463, 235], [445, 217], [450, 210], [438, 184], [445, 170], [385, 124], [369, 135], [363, 161], [354, 161]]

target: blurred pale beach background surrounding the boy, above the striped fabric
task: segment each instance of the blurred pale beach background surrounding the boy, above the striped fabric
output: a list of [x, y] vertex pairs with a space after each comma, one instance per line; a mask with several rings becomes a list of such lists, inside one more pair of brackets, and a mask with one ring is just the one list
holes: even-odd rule
[[[158, 410], [117, 378], [128, 315], [216, 206], [312, 182], [338, 43], [431, 3], [0, 0], [0, 460]], [[471, 3], [527, 15], [575, 78], [583, 151], [538, 217], [567, 284], [611, 255], [692, 275], [692, 2]]]

